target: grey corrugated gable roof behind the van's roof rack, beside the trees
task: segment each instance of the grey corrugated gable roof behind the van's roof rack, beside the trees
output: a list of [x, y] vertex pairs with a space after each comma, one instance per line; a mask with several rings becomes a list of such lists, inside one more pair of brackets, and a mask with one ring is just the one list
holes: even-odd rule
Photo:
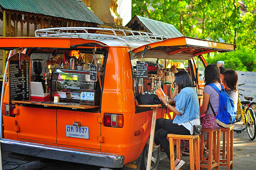
[[143, 29], [153, 34], [164, 35], [168, 37], [182, 37], [183, 35], [172, 24], [163, 23], [161, 21], [148, 19], [145, 17], [134, 16], [131, 21], [126, 25], [135, 30], [136, 22], [140, 24]]

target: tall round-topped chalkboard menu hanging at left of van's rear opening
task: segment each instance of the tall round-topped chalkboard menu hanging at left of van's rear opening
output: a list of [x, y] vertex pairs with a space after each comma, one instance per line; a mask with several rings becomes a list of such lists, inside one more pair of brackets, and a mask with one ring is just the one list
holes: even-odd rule
[[9, 58], [9, 103], [12, 100], [29, 100], [30, 57], [14, 54]]

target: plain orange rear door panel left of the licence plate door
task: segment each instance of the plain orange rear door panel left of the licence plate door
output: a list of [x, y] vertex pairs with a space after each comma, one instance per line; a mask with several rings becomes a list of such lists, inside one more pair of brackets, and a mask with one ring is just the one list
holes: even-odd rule
[[56, 110], [17, 106], [18, 139], [56, 143]]

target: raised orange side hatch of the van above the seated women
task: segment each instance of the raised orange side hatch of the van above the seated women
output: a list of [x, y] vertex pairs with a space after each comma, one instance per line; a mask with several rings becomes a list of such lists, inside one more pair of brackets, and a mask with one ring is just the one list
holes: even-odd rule
[[[224, 42], [203, 40], [192, 37], [176, 37], [160, 42], [147, 44], [150, 46], [143, 57], [162, 59], [191, 59], [210, 52], [233, 51], [234, 45]], [[131, 59], [140, 58], [146, 45], [130, 51]]]

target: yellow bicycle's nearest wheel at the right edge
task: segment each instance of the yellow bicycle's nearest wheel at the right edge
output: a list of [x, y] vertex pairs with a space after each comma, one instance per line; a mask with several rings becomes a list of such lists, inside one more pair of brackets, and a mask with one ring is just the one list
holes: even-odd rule
[[252, 108], [246, 109], [246, 117], [247, 117], [247, 133], [251, 140], [254, 140], [256, 137], [256, 120], [255, 120], [255, 114], [252, 110]]

